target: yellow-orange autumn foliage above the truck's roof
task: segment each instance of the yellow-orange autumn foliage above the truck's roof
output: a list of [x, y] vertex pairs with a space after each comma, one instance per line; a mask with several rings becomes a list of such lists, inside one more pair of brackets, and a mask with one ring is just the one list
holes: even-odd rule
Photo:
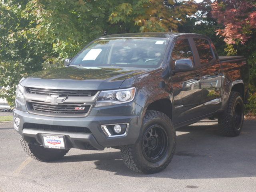
[[194, 1], [180, 0], [130, 0], [112, 9], [112, 24], [140, 26], [140, 32], [178, 32], [187, 16], [196, 12]]

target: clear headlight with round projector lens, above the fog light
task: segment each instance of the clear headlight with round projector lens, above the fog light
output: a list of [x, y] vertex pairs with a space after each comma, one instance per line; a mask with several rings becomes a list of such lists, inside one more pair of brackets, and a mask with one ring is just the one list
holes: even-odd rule
[[94, 107], [110, 106], [127, 103], [134, 99], [135, 87], [128, 89], [108, 90], [100, 92]]

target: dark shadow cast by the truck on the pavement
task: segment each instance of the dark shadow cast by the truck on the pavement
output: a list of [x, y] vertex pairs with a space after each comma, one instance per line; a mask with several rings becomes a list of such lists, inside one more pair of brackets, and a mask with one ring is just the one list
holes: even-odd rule
[[96, 169], [132, 177], [173, 179], [236, 178], [256, 176], [256, 121], [246, 120], [242, 133], [230, 138], [218, 134], [216, 122], [200, 122], [177, 130], [176, 154], [157, 174], [130, 171], [119, 151], [66, 156], [59, 162], [95, 161]]

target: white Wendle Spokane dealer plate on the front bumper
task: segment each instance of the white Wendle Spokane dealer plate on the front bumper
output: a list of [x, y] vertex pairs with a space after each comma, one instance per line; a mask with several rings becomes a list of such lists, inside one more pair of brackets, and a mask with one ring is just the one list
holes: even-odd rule
[[45, 148], [65, 149], [64, 136], [42, 135]]

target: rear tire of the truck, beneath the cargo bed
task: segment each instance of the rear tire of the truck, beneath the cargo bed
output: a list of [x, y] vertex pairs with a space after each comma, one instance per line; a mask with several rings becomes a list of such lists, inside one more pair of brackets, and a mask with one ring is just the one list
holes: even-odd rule
[[[241, 117], [239, 123], [236, 123], [236, 106], [241, 106]], [[244, 122], [244, 102], [239, 92], [232, 91], [228, 99], [226, 109], [218, 115], [219, 131], [224, 136], [238, 136], [242, 130]]]

